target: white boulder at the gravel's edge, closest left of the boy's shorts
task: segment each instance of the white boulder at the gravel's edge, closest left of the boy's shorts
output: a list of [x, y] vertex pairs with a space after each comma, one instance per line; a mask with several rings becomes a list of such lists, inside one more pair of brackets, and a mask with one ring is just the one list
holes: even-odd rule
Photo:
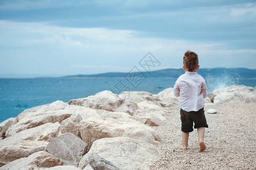
[[164, 109], [158, 105], [142, 101], [138, 103], [138, 110], [134, 113], [135, 120], [151, 126], [164, 125], [166, 118]]

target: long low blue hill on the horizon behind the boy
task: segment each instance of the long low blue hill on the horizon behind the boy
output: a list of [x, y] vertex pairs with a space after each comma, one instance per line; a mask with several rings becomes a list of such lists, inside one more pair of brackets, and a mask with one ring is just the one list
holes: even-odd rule
[[[184, 74], [183, 69], [164, 69], [164, 70], [156, 70], [147, 73], [146, 71], [142, 72], [148, 78], [178, 78], [181, 74]], [[197, 71], [204, 78], [210, 76], [213, 77], [221, 77], [221, 76], [229, 76], [230, 78], [255, 78], [256, 79], [256, 69], [245, 69], [245, 68], [214, 68], [214, 69], [199, 69]], [[63, 76], [63, 78], [116, 78], [116, 77], [125, 77], [127, 73], [102, 73], [102, 74], [79, 74], [79, 75], [68, 75]], [[142, 74], [138, 74], [138, 76], [143, 76]]]

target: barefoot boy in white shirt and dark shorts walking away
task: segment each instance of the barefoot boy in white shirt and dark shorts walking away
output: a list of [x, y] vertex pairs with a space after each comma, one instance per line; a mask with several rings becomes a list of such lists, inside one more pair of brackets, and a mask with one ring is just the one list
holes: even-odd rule
[[183, 69], [185, 74], [181, 75], [175, 82], [174, 94], [180, 96], [180, 119], [183, 145], [181, 150], [188, 148], [189, 132], [197, 129], [200, 151], [204, 151], [205, 128], [208, 128], [204, 115], [204, 98], [207, 97], [207, 86], [204, 78], [196, 73], [199, 69], [199, 60], [195, 52], [188, 50], [183, 57]]

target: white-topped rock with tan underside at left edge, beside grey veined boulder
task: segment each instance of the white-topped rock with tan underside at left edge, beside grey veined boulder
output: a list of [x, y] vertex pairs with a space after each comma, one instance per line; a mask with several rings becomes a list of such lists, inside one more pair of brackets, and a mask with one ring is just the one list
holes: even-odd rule
[[25, 158], [38, 151], [46, 151], [46, 141], [20, 140], [5, 143], [0, 147], [0, 167], [16, 159]]

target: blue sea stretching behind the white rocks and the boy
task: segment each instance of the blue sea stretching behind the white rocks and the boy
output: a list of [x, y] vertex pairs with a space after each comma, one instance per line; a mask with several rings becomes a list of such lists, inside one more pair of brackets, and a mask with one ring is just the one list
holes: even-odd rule
[[[121, 82], [120, 82], [121, 81]], [[29, 78], [0, 79], [0, 122], [16, 117], [24, 109], [52, 103], [56, 100], [87, 97], [104, 90], [128, 87], [131, 91], [148, 91], [152, 94], [174, 87], [176, 78], [147, 78], [137, 87], [125, 78]], [[118, 84], [119, 83], [119, 84]], [[234, 84], [255, 87], [256, 79], [237, 79], [228, 76], [208, 78], [208, 92]], [[122, 86], [121, 86], [122, 85]], [[117, 94], [118, 94], [117, 90]]]

